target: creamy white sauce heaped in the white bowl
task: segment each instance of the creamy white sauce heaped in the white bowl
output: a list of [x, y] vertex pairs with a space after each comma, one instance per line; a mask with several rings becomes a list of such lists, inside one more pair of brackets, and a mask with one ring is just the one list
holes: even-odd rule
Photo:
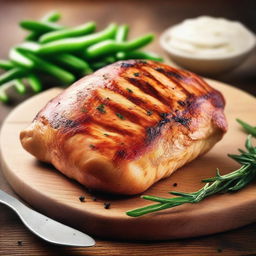
[[255, 36], [243, 24], [224, 18], [187, 19], [167, 31], [165, 45], [177, 54], [229, 57], [255, 46]]

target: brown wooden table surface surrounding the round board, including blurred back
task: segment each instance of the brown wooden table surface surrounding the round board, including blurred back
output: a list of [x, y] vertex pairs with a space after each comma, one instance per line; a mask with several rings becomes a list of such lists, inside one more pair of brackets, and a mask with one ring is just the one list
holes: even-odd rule
[[[63, 13], [63, 24], [76, 25], [95, 20], [99, 27], [110, 21], [131, 25], [131, 37], [147, 32], [157, 36], [168, 26], [202, 14], [243, 22], [256, 33], [256, 2], [247, 1], [1, 1], [0, 58], [24, 37], [17, 24], [21, 19], [38, 19], [49, 10]], [[149, 49], [164, 54], [158, 40]], [[256, 95], [256, 51], [238, 69], [214, 77]], [[20, 98], [0, 104], [0, 125]], [[0, 172], [0, 189], [15, 195]], [[16, 196], [16, 195], [15, 195]], [[125, 230], [124, 230], [125, 232]], [[7, 207], [0, 205], [0, 255], [256, 255], [256, 223], [229, 232], [175, 241], [121, 242], [96, 239], [92, 248], [59, 247], [48, 244], [25, 229]], [[18, 243], [22, 241], [22, 244]]]

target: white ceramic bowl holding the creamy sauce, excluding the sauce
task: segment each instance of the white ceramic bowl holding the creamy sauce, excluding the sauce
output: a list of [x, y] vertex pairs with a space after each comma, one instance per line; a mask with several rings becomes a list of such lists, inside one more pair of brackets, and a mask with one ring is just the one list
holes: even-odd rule
[[231, 71], [239, 66], [254, 50], [256, 45], [256, 37], [251, 47], [248, 47], [241, 52], [230, 56], [214, 56], [214, 58], [206, 58], [200, 56], [189, 56], [187, 54], [179, 53], [173, 50], [167, 43], [169, 35], [169, 28], [160, 36], [160, 45], [167, 52], [171, 60], [179, 66], [188, 69], [192, 72], [201, 75], [216, 75]]

